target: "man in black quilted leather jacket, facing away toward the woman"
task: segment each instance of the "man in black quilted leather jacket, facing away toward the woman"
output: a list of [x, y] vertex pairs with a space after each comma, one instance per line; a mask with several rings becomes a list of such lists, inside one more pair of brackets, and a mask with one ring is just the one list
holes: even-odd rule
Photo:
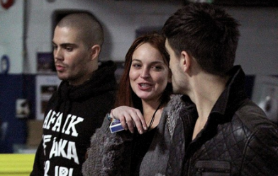
[[166, 21], [174, 93], [188, 95], [197, 117], [177, 117], [167, 175], [277, 175], [278, 129], [245, 95], [234, 66], [238, 22], [194, 3]]

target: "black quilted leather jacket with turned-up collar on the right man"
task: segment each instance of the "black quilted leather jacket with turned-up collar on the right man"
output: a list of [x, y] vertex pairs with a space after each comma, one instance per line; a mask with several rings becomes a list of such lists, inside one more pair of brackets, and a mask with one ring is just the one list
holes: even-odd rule
[[245, 95], [240, 66], [191, 141], [196, 118], [177, 119], [167, 175], [278, 175], [278, 129]]

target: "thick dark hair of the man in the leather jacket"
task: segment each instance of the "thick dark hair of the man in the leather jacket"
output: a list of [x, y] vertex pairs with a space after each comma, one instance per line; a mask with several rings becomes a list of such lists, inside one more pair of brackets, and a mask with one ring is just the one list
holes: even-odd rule
[[217, 6], [191, 3], [169, 17], [162, 33], [177, 56], [186, 51], [201, 69], [223, 76], [235, 62], [239, 25]]

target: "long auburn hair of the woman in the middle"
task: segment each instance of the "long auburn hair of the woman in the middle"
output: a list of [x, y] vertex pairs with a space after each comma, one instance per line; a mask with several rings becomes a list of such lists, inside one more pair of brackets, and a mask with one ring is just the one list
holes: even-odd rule
[[[142, 35], [137, 39], [135, 39], [133, 44], [128, 49], [128, 52], [126, 53], [124, 71], [123, 71], [123, 75], [121, 76], [121, 80], [119, 82], [115, 107], [126, 105], [130, 107], [138, 108], [141, 111], [143, 110], [141, 99], [138, 98], [138, 96], [133, 92], [130, 86], [129, 71], [130, 71], [133, 53], [140, 45], [143, 45], [145, 43], [149, 43], [150, 45], [152, 45], [152, 47], [155, 47], [162, 55], [162, 59], [165, 62], [165, 64], [169, 66], [169, 54], [165, 49], [165, 37], [163, 37], [159, 33], [154, 32], [154, 33]], [[171, 93], [172, 93], [172, 85], [170, 83], [167, 83], [167, 86], [161, 98], [162, 104], [165, 104], [169, 101]]]

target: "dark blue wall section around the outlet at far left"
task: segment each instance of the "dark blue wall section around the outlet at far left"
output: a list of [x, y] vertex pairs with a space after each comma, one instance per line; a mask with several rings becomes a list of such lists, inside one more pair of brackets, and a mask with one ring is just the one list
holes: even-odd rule
[[25, 144], [28, 119], [16, 117], [16, 100], [30, 102], [30, 118], [34, 115], [35, 76], [0, 74], [0, 153], [13, 153], [16, 144]]

